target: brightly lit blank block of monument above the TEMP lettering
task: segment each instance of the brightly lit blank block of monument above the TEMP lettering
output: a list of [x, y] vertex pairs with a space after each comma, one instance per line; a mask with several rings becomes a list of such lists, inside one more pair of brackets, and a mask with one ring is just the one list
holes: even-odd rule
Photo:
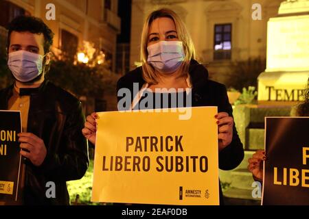
[[309, 15], [271, 18], [266, 72], [309, 70]]

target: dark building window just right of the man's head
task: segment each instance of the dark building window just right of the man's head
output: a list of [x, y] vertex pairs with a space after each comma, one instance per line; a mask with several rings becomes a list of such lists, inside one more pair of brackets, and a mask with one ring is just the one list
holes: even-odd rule
[[66, 60], [73, 60], [78, 49], [78, 37], [61, 29], [61, 51]]

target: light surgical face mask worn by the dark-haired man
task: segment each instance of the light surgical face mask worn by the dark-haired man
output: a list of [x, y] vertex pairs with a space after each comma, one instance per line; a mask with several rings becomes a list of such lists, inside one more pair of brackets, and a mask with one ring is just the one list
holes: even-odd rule
[[23, 50], [12, 52], [8, 55], [8, 67], [18, 81], [28, 82], [42, 74], [43, 57]]

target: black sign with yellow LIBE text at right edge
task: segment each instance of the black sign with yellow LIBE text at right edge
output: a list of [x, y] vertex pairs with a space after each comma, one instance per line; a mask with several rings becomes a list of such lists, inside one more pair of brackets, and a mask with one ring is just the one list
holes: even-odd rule
[[309, 205], [309, 117], [265, 118], [262, 205]]

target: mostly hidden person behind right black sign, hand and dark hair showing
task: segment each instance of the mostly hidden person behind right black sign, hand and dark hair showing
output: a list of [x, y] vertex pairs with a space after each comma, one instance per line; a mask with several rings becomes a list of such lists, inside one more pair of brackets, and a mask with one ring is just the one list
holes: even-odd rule
[[[291, 116], [309, 116], [309, 78], [307, 88], [304, 94], [304, 103], [292, 108]], [[263, 163], [266, 160], [266, 153], [264, 150], [256, 151], [251, 158], [249, 158], [248, 169], [252, 172], [255, 181], [263, 181]]]

